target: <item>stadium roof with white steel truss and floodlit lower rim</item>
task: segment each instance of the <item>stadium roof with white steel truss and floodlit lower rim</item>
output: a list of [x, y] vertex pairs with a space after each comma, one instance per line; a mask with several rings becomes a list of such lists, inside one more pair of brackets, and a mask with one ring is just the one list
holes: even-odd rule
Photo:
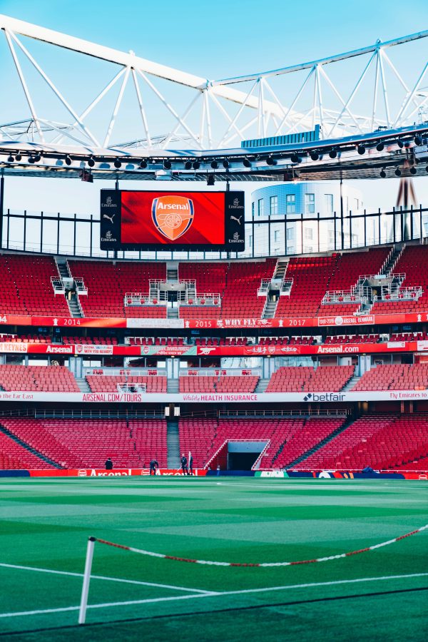
[[[118, 51], [8, 16], [0, 15], [0, 29], [22, 98], [20, 120], [6, 121], [1, 114], [7, 101], [0, 106], [0, 170], [4, 175], [75, 178], [86, 170], [91, 178], [206, 180], [208, 173], [215, 173], [215, 180], [320, 180], [378, 178], [381, 171], [390, 176], [397, 167], [403, 175], [426, 171], [426, 49], [415, 58], [418, 66], [423, 63], [416, 74], [409, 65], [400, 70], [387, 51], [392, 47], [401, 51], [422, 41], [428, 31], [272, 71], [209, 80], [148, 61], [132, 51]], [[106, 76], [106, 86], [98, 93], [94, 90], [81, 111], [73, 106], [81, 96], [68, 86], [67, 75], [58, 88], [31, 53], [31, 41], [50, 46], [49, 56], [54, 55], [54, 47], [80, 54], [79, 73], [86, 73], [89, 62], [97, 59], [112, 67], [113, 76]], [[352, 78], [352, 91], [346, 94], [345, 88], [332, 81], [330, 67], [350, 59], [361, 59], [362, 68], [352, 71], [355, 83]], [[38, 78], [37, 102], [44, 113], [36, 111], [29, 70]], [[367, 93], [365, 83], [371, 71], [375, 71], [375, 82]], [[96, 86], [93, 72], [88, 73]], [[283, 84], [272, 84], [298, 73], [303, 77], [297, 93], [290, 93]], [[40, 78], [46, 89], [42, 101]], [[136, 98], [136, 121], [125, 104], [127, 87]], [[188, 92], [185, 96], [183, 88]], [[115, 91], [111, 113], [103, 101]], [[309, 107], [301, 103], [307, 91]], [[361, 92], [364, 99], [358, 103]], [[361, 108], [366, 113], [360, 113]], [[91, 121], [97, 109], [99, 116]], [[122, 112], [128, 129], [121, 128]], [[319, 141], [275, 142], [279, 136], [311, 130], [316, 124]], [[119, 130], [127, 142], [113, 144], [113, 131], [118, 136]], [[126, 136], [137, 131], [139, 138]], [[251, 136], [271, 142], [265, 147], [240, 147]]]

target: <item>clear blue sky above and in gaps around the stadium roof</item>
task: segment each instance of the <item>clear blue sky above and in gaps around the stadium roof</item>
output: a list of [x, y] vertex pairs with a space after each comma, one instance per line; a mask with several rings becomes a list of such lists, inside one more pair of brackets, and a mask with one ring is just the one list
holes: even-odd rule
[[[306, 0], [305, 3], [0, 0], [0, 13], [115, 49], [132, 49], [144, 58], [206, 78], [287, 66], [358, 49], [378, 38], [389, 40], [428, 28], [427, 0]], [[426, 56], [426, 41], [424, 43]], [[0, 43], [0, 74], [5, 86], [12, 69], [1, 45], [4, 43]], [[415, 61], [420, 63], [417, 51], [420, 50], [409, 46], [401, 61], [404, 68], [414, 65]], [[49, 72], [64, 80], [61, 56], [52, 56], [52, 51], [46, 55], [50, 56], [49, 60], [45, 59]], [[343, 83], [347, 80], [337, 78]], [[70, 82], [76, 82], [72, 75]], [[73, 89], [76, 91], [76, 86]], [[85, 87], [81, 90], [83, 93]], [[14, 92], [9, 94], [7, 104], [7, 117], [13, 113], [20, 118], [22, 103], [14, 101]], [[0, 116], [1, 111], [2, 108]], [[1, 116], [0, 120], [4, 119]], [[31, 185], [34, 195], [29, 203], [29, 190], [22, 188], [21, 180], [11, 179], [6, 186], [6, 206], [67, 212], [95, 206], [98, 190], [104, 185], [76, 183], [68, 180], [26, 183], [27, 187]], [[143, 183], [137, 186], [143, 188]], [[397, 180], [361, 181], [358, 186], [365, 193], [367, 205], [374, 208], [394, 205]], [[428, 177], [415, 180], [415, 187], [418, 200], [426, 203]]]

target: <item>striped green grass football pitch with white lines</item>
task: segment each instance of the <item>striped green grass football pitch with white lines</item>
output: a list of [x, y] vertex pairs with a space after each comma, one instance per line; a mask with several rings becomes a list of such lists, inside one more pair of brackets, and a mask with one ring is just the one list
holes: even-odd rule
[[428, 639], [426, 481], [111, 477], [0, 480], [0, 640]]

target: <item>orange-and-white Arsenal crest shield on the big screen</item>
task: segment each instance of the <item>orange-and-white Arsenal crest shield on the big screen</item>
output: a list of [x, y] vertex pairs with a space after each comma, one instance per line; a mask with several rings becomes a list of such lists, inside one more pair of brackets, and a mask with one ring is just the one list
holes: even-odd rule
[[193, 223], [193, 200], [168, 195], [153, 198], [152, 218], [157, 230], [169, 240], [183, 236]]

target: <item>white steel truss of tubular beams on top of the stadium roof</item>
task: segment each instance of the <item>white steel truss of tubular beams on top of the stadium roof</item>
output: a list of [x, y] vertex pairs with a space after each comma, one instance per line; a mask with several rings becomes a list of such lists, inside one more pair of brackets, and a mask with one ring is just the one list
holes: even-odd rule
[[[12, 122], [6, 113], [2, 116], [7, 104], [2, 101], [0, 141], [4, 142], [41, 147], [68, 142], [86, 151], [101, 147], [213, 151], [239, 147], [245, 138], [311, 131], [316, 125], [321, 138], [331, 140], [428, 121], [426, 48], [414, 56], [413, 65], [400, 68], [399, 59], [406, 46], [415, 46], [428, 31], [317, 61], [212, 81], [132, 51], [118, 51], [8, 16], [0, 15], [0, 29], [24, 98], [19, 112], [14, 111], [21, 120]], [[68, 84], [66, 73], [58, 87], [38, 56], [31, 54], [31, 41], [84, 54], [87, 60], [112, 67], [103, 88], [86, 98], [86, 108], [78, 106], [81, 96]], [[392, 60], [392, 48], [398, 52], [397, 61]], [[83, 76], [84, 58], [78, 56], [78, 61]], [[347, 72], [345, 65], [351, 63], [352, 71]], [[341, 80], [337, 81], [333, 78], [339, 66]], [[30, 73], [34, 70], [44, 91], [51, 94], [50, 102], [36, 100], [41, 88], [40, 84], [34, 88]], [[86, 81], [86, 86], [96, 87], [96, 78], [89, 79], [93, 83]], [[291, 80], [292, 91], [287, 85]], [[56, 108], [51, 109], [53, 98]], [[101, 116], [93, 118], [96, 108]], [[112, 143], [113, 136], [116, 142]]]

